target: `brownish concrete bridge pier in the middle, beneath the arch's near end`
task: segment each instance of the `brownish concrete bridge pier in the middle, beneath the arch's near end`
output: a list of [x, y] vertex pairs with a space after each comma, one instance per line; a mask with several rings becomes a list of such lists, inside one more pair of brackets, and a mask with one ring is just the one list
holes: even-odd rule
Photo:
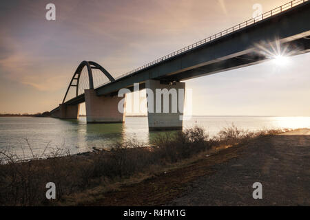
[[123, 97], [96, 96], [94, 89], [85, 89], [87, 123], [123, 123], [125, 114], [118, 111]]

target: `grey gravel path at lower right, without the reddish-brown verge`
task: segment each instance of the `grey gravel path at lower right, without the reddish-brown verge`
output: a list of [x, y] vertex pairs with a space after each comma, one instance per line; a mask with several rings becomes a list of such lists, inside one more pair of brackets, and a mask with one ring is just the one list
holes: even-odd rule
[[[310, 206], [310, 129], [263, 137], [216, 172], [192, 181], [169, 206]], [[254, 182], [262, 199], [254, 199]]]

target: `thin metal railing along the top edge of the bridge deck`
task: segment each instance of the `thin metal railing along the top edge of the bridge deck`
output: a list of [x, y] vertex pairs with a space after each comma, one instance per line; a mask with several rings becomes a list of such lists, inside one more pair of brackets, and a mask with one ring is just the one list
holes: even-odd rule
[[[152, 62], [147, 63], [147, 64], [145, 64], [145, 65], [143, 65], [141, 67], [133, 69], [132, 71], [127, 72], [125, 74], [122, 74], [121, 76], [118, 76], [115, 79], [117, 80], [119, 78], [123, 78], [125, 76], [129, 76], [131, 74], [134, 74], [135, 72], [138, 72], [141, 69], [145, 69], [145, 68], [150, 67], [150, 66], [152, 66], [152, 65], [154, 65], [156, 63], [161, 63], [162, 61], [165, 61], [168, 58], [172, 58], [173, 56], [176, 56], [178, 54], [182, 54], [183, 52], [186, 52], [188, 50], [192, 50], [195, 47], [198, 47], [198, 46], [203, 45], [205, 43], [209, 43], [211, 41], [214, 41], [214, 40], [216, 40], [216, 39], [218, 39], [218, 38], [220, 38], [222, 36], [225, 36], [227, 34], [231, 34], [232, 32], [236, 32], [236, 31], [238, 31], [238, 30], [240, 30], [242, 28], [246, 28], [247, 26], [253, 25], [254, 23], [257, 23], [258, 21], [262, 21], [262, 20], [267, 19], [269, 17], [273, 17], [276, 14], [284, 12], [285, 10], [289, 10], [290, 8], [293, 8], [296, 5], [300, 5], [300, 4], [302, 4], [302, 3], [306, 2], [306, 1], [309, 1], [309, 0], [293, 0], [293, 1], [290, 1], [289, 3], [281, 5], [278, 8], [274, 8], [273, 10], [270, 10], [269, 12], [265, 12], [264, 14], [261, 14], [258, 17], [255, 17], [253, 19], [249, 19], [249, 20], [247, 20], [245, 22], [239, 23], [238, 25], [235, 25], [234, 27], [231, 27], [231, 28], [228, 28], [226, 30], [223, 30], [222, 32], [218, 32], [217, 34], [214, 34], [212, 36], [207, 37], [206, 39], [203, 39], [201, 41], [193, 43], [192, 45], [188, 45], [187, 47], [183, 47], [182, 49], [177, 50], [176, 52], [172, 52], [171, 54], [168, 54], [166, 56], [158, 58], [156, 61], [152, 61]], [[107, 82], [107, 83], [105, 83], [103, 85], [106, 85], [108, 83], [110, 83], [110, 82]]]

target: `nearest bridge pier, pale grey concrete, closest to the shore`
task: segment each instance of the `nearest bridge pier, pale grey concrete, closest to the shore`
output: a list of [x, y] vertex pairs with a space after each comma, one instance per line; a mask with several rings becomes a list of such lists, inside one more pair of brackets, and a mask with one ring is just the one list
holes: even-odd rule
[[185, 83], [165, 84], [159, 80], [147, 80], [145, 88], [149, 130], [182, 129]]

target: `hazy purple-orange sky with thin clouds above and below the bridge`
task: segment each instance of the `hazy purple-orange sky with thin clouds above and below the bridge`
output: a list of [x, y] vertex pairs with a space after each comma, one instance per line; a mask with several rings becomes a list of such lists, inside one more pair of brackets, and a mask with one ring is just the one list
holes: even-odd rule
[[[112, 76], [251, 19], [288, 0], [1, 1], [0, 113], [50, 111], [76, 67]], [[56, 20], [45, 5], [56, 5]], [[310, 116], [310, 54], [186, 80], [194, 115]], [[85, 106], [81, 107], [85, 112]]]

